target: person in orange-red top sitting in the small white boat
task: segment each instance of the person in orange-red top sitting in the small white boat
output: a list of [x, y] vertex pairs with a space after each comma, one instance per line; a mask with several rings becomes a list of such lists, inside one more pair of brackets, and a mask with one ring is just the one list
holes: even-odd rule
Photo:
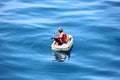
[[63, 43], [67, 43], [67, 35], [65, 32], [63, 32], [62, 28], [58, 28], [58, 32], [60, 33], [56, 38], [51, 38], [54, 39], [55, 42], [58, 45], [62, 45]]

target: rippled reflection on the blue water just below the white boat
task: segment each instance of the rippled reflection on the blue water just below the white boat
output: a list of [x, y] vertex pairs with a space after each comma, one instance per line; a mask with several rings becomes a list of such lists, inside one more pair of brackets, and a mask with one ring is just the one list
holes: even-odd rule
[[70, 51], [52, 51], [54, 55], [54, 61], [64, 62], [66, 59], [70, 59]]

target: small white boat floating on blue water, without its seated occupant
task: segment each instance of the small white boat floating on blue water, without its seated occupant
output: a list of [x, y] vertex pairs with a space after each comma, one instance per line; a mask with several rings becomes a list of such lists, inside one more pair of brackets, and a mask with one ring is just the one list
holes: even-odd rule
[[58, 45], [55, 41], [52, 43], [51, 48], [54, 51], [69, 51], [73, 45], [73, 37], [72, 35], [67, 34], [67, 43], [62, 45]]

